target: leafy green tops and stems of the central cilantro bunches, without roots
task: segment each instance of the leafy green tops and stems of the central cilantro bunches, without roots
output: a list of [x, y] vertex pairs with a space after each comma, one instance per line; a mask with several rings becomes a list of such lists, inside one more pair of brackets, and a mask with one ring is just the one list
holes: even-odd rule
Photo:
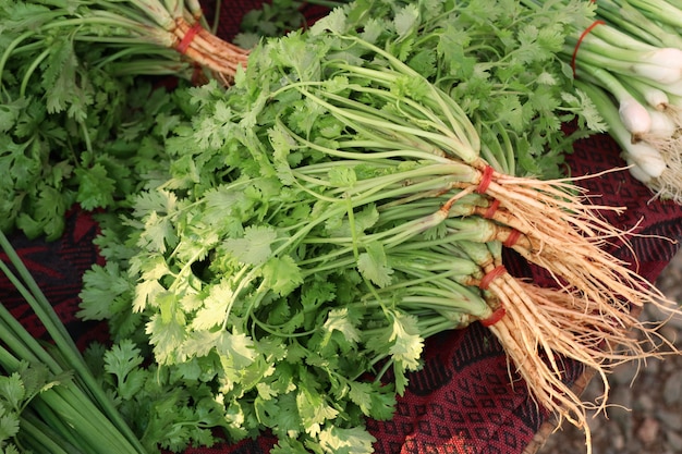
[[[466, 284], [484, 270], [458, 246], [490, 241], [486, 224], [434, 209], [475, 176], [452, 157], [475, 160], [483, 144], [500, 170], [556, 174], [567, 148], [548, 145], [570, 144], [556, 126], [582, 102], [545, 64], [559, 50], [558, 14], [541, 17], [546, 39], [521, 9], [507, 34], [490, 34], [506, 19], [476, 8], [356, 2], [266, 40], [229, 90], [186, 91], [192, 120], [166, 142], [170, 179], [133, 197], [131, 230], [103, 249], [124, 242], [131, 253], [96, 267], [82, 294], [82, 315], [110, 319], [126, 352], [125, 370], [102, 375], [123, 402], [144, 389], [125, 340], [137, 332], [161, 370], [219, 390], [231, 440], [269, 429], [273, 452], [372, 452], [365, 418], [391, 417], [424, 340], [498, 304]], [[538, 121], [520, 127], [521, 111]], [[524, 167], [532, 154], [546, 161]], [[487, 203], [462, 194], [458, 207]], [[97, 297], [106, 289], [120, 289], [114, 310]]]

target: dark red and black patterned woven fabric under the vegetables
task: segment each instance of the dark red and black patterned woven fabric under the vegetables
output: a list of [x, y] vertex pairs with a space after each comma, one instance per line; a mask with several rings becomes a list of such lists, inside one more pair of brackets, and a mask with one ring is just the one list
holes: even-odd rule
[[[221, 36], [233, 36], [242, 15], [258, 4], [259, 1], [248, 0], [223, 2]], [[212, 11], [208, 4], [206, 10], [210, 17]], [[306, 14], [314, 17], [320, 10], [310, 7]], [[581, 140], [575, 152], [568, 157], [568, 163], [571, 174], [576, 176], [623, 165], [618, 146], [606, 135]], [[678, 249], [678, 244], [665, 238], [682, 241], [682, 207], [650, 200], [651, 193], [626, 171], [604, 173], [581, 184], [589, 189], [595, 204], [626, 208], [620, 216], [607, 211], [605, 218], [620, 229], [638, 224], [636, 232], [641, 235], [632, 238], [632, 249], [614, 244], [610, 251], [631, 262], [633, 269], [653, 282]], [[83, 272], [92, 263], [101, 262], [93, 245], [96, 233], [93, 218], [73, 209], [69, 213], [68, 232], [57, 242], [12, 237], [20, 256], [80, 346], [94, 339], [101, 340], [106, 333], [106, 327], [83, 323], [75, 317]], [[513, 274], [533, 278], [539, 285], [551, 282], [513, 254], [507, 254], [506, 259]], [[0, 295], [2, 303], [35, 336], [45, 335], [4, 277], [0, 278]], [[409, 389], [398, 401], [394, 418], [367, 421], [378, 440], [377, 453], [520, 454], [528, 449], [543, 425], [550, 424], [550, 415], [536, 406], [524, 383], [517, 378], [510, 381], [504, 352], [478, 323], [429, 339], [425, 361], [422, 371], [410, 376]], [[569, 367], [569, 383], [585, 377], [576, 365]], [[264, 434], [236, 445], [191, 449], [186, 453], [258, 454], [267, 453], [273, 443], [272, 437]]]

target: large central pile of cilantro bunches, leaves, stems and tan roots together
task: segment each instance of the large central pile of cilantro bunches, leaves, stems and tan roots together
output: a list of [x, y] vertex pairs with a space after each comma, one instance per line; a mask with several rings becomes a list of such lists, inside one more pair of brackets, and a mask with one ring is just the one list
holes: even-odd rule
[[[179, 19], [198, 10], [183, 11], [170, 16], [188, 33]], [[229, 88], [208, 72], [200, 87], [143, 103], [123, 128], [127, 180], [89, 139], [90, 106], [106, 102], [66, 110], [90, 159], [75, 161], [81, 172], [99, 163], [112, 185], [125, 182], [124, 199], [86, 207], [108, 208], [97, 240], [107, 263], [86, 273], [80, 316], [109, 323], [112, 345], [86, 358], [141, 444], [181, 452], [221, 428], [230, 441], [267, 430], [273, 453], [373, 452], [365, 422], [392, 417], [425, 340], [471, 323], [504, 347], [510, 380], [589, 439], [589, 404], [563, 361], [608, 384], [612, 367], [666, 342], [631, 308], [674, 310], [604, 248], [630, 233], [601, 218], [620, 208], [589, 205], [562, 177], [572, 142], [605, 127], [562, 60], [590, 20], [584, 1], [338, 8], [261, 41]], [[195, 42], [192, 29], [181, 42]], [[114, 77], [113, 60], [93, 59]], [[42, 60], [29, 61], [23, 81]], [[11, 83], [24, 99], [28, 84]], [[556, 285], [511, 275], [506, 249]], [[595, 405], [607, 397], [608, 385]]]

